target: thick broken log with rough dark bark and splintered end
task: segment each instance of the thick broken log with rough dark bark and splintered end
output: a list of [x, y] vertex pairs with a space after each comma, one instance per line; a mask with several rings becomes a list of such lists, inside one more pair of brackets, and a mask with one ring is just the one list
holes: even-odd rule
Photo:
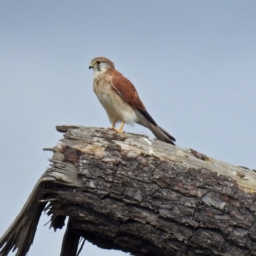
[[[27, 210], [0, 239], [1, 256], [13, 246], [19, 256], [28, 251], [31, 239], [23, 241], [26, 250], [16, 240], [31, 198], [35, 216], [50, 202], [53, 228], [69, 216], [70, 234], [101, 248], [138, 256], [256, 255], [254, 170], [138, 134], [57, 129], [68, 131], [51, 149], [51, 168], [36, 185], [44, 184], [44, 200], [31, 195]], [[35, 227], [36, 221], [28, 224]]]

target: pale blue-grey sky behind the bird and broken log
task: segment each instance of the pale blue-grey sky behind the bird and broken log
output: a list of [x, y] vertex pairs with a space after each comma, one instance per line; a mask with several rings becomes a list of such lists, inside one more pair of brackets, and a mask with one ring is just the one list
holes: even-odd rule
[[[254, 0], [1, 0], [0, 236], [49, 165], [54, 127], [109, 126], [88, 70], [96, 56], [134, 83], [177, 145], [255, 169], [255, 31]], [[48, 220], [28, 256], [60, 253], [63, 231]], [[81, 255], [125, 253], [87, 243]]]

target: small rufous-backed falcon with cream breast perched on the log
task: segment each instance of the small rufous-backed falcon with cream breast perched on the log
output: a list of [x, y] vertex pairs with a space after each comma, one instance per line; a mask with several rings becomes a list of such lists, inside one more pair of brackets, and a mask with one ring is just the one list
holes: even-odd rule
[[[124, 132], [125, 124], [140, 124], [152, 131], [157, 140], [175, 145], [175, 138], [159, 127], [149, 115], [134, 85], [115, 69], [114, 63], [106, 57], [93, 58], [89, 69], [93, 69], [93, 92], [106, 110], [116, 132]], [[121, 122], [116, 129], [116, 122]]]

